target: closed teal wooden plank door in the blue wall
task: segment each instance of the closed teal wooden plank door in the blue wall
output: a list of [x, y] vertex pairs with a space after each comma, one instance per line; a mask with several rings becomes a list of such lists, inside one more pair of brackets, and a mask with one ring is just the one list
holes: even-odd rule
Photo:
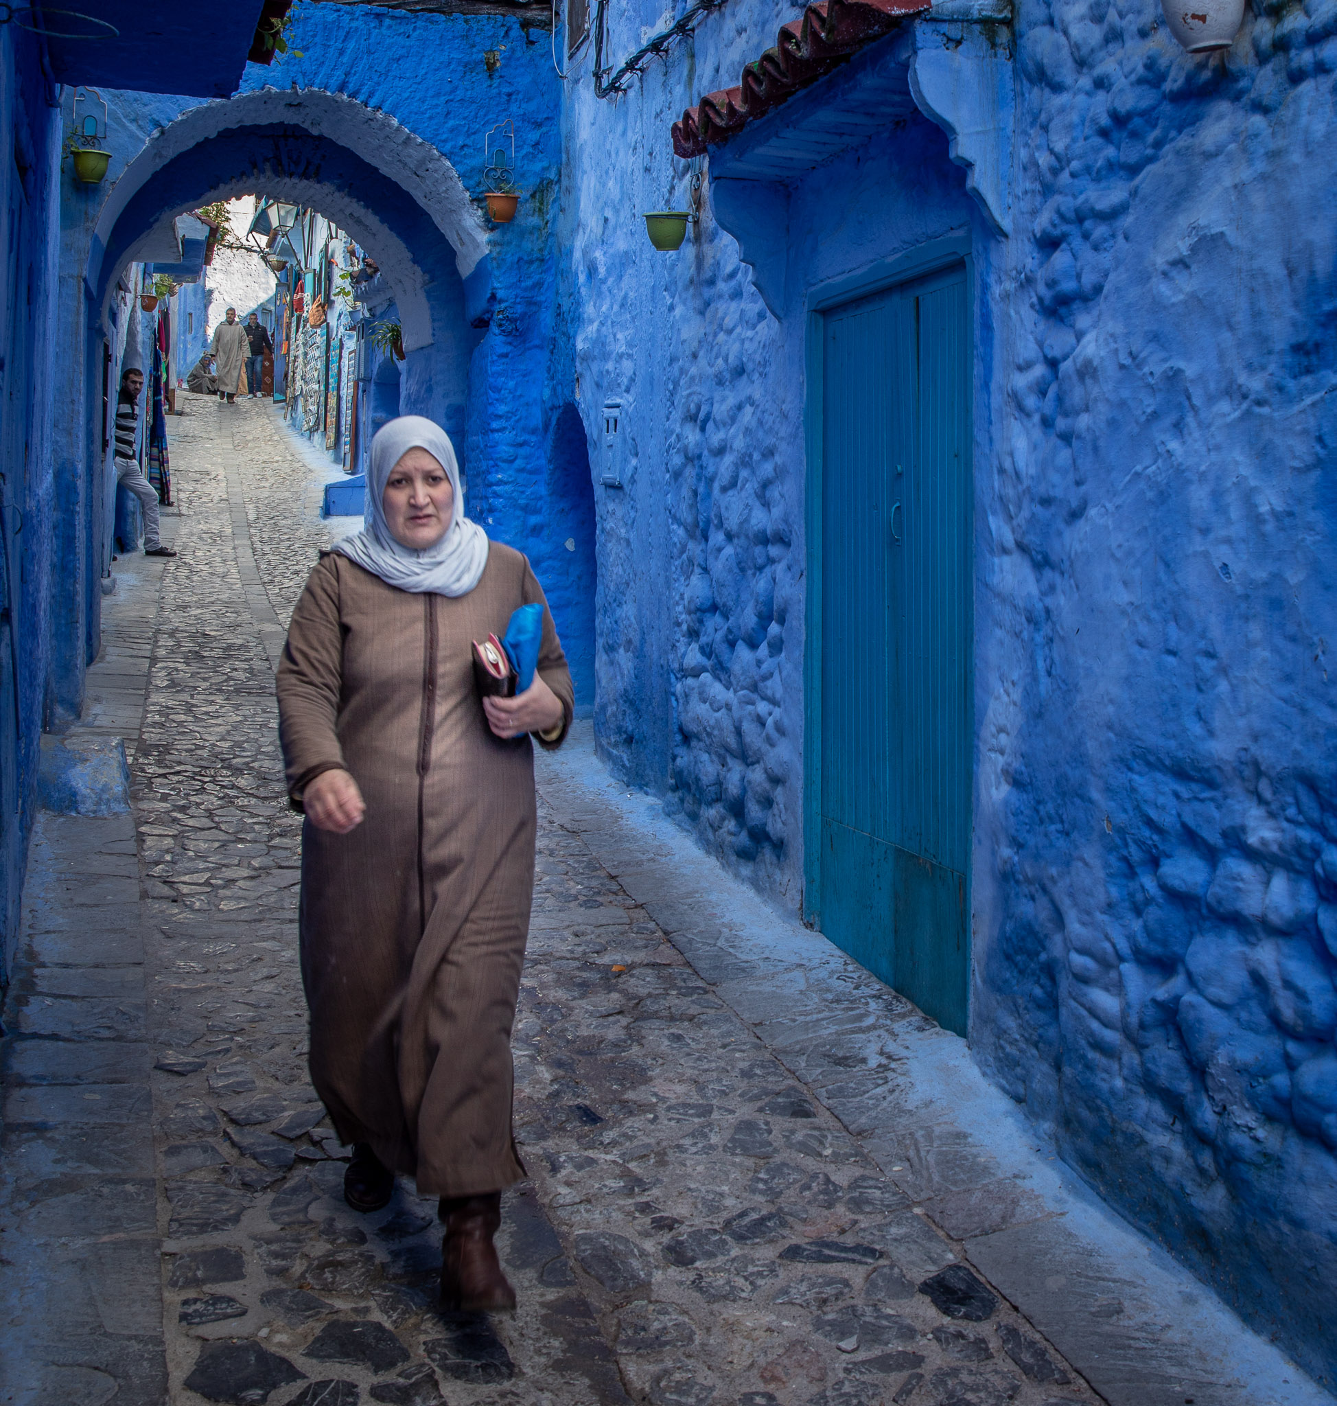
[[969, 988], [966, 271], [822, 318], [815, 917], [948, 1029]]

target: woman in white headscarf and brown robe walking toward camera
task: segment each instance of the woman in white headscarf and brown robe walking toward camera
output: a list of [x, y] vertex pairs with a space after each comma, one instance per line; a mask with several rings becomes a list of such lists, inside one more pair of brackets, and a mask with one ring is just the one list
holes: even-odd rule
[[[543, 606], [533, 685], [479, 699], [472, 641]], [[492, 1236], [524, 1175], [510, 1133], [534, 877], [530, 734], [558, 747], [571, 675], [529, 561], [464, 516], [450, 440], [402, 416], [371, 441], [367, 526], [322, 555], [278, 666], [305, 811], [301, 952], [311, 1077], [353, 1144], [344, 1197], [394, 1174], [440, 1197], [446, 1308], [515, 1308]]]

